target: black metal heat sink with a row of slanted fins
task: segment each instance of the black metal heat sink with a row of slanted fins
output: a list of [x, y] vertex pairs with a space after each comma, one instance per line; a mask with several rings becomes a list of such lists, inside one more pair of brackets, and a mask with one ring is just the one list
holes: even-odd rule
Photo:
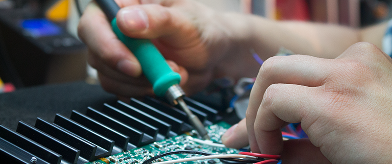
[[[221, 119], [218, 111], [188, 97], [190, 110], [205, 125]], [[16, 131], [0, 125], [0, 158], [10, 164], [85, 164], [192, 130], [186, 114], [152, 97], [88, 107], [53, 122], [19, 121]]]

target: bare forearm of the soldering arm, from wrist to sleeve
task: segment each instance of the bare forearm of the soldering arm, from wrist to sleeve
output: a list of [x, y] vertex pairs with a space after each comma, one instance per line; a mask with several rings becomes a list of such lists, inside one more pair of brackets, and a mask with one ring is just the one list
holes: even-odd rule
[[351, 45], [366, 41], [381, 48], [385, 23], [376, 27], [356, 29], [334, 24], [297, 21], [273, 21], [253, 15], [225, 13], [222, 23], [231, 33], [230, 48], [218, 66], [220, 76], [255, 77], [260, 65], [252, 58], [250, 49], [266, 60], [280, 47], [295, 54], [321, 58], [336, 58]]

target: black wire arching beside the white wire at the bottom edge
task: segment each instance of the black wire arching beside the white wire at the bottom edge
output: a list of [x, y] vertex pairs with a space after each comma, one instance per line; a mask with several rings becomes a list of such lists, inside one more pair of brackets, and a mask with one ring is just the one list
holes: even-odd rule
[[[170, 151], [170, 152], [166, 152], [166, 153], [162, 153], [162, 154], [156, 155], [156, 156], [154, 156], [154, 157], [144, 161], [142, 164], [150, 164], [152, 161], [154, 161], [154, 160], [156, 160], [158, 158], [162, 158], [162, 157], [173, 155], [173, 154], [199, 154], [199, 155], [203, 155], [203, 156], [213, 155], [211, 153], [206, 153], [206, 152], [196, 151], [196, 150], [177, 150], [177, 151]], [[238, 162], [236, 164], [260, 162], [260, 161], [257, 161], [257, 160], [248, 160], [248, 159], [240, 159], [240, 158], [223, 158], [223, 160], [232, 161], [232, 162]], [[232, 164], [232, 163], [230, 163], [230, 164]]]

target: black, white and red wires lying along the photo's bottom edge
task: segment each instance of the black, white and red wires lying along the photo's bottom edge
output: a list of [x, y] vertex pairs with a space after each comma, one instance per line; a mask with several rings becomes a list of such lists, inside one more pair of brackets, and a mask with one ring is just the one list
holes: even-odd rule
[[[259, 153], [249, 153], [249, 152], [240, 152], [239, 154], [221, 154], [221, 155], [214, 155], [202, 151], [194, 151], [194, 150], [177, 150], [171, 151], [167, 153], [162, 153], [157, 156], [154, 156], [142, 164], [150, 164], [156, 159], [173, 155], [173, 154], [199, 154], [204, 155], [201, 157], [191, 157], [191, 158], [183, 158], [171, 161], [164, 161], [155, 164], [174, 164], [174, 163], [182, 163], [188, 161], [198, 161], [198, 160], [208, 160], [208, 159], [220, 159], [224, 164], [277, 164], [279, 163], [278, 159], [280, 159], [279, 155], [268, 155], [268, 154], [259, 154]], [[268, 158], [268, 160], [265, 160]]]

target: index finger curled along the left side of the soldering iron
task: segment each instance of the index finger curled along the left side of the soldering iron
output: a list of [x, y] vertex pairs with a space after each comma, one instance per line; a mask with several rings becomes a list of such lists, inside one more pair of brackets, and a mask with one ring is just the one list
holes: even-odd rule
[[85, 10], [78, 25], [79, 37], [89, 50], [114, 70], [137, 77], [142, 73], [136, 57], [117, 39], [105, 15], [95, 3]]

